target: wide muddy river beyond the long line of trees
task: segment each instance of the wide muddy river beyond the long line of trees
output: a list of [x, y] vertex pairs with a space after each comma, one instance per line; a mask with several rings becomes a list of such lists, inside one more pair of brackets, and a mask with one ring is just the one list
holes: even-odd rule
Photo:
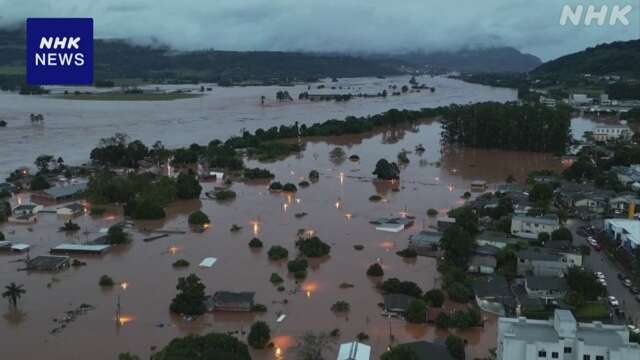
[[[291, 87], [226, 88], [213, 85], [211, 91], [205, 92], [202, 97], [173, 101], [62, 100], [0, 92], [0, 119], [8, 122], [6, 128], [0, 128], [0, 176], [6, 177], [19, 166], [33, 165], [35, 158], [41, 154], [62, 156], [68, 164], [86, 162], [89, 152], [98, 141], [116, 132], [124, 132], [132, 139], [140, 139], [150, 145], [162, 140], [168, 147], [177, 147], [194, 142], [207, 144], [213, 139], [225, 140], [238, 135], [241, 129], [290, 125], [296, 121], [312, 124], [350, 115], [377, 114], [391, 108], [417, 110], [452, 103], [516, 99], [515, 90], [429, 76], [421, 76], [417, 80], [435, 87], [434, 93], [422, 90], [419, 93], [391, 96], [389, 86], [400, 88], [409, 79], [407, 76], [354, 78], [340, 79], [336, 83], [326, 80], [323, 83]], [[325, 88], [318, 89], [319, 85]], [[310, 90], [308, 86], [311, 86]], [[331, 87], [336, 89], [332, 90]], [[198, 91], [200, 86], [161, 85], [160, 88]], [[77, 89], [87, 91], [86, 88]], [[279, 90], [288, 91], [295, 100], [276, 101], [276, 92]], [[377, 94], [383, 90], [389, 92], [388, 97], [354, 98], [346, 102], [297, 100], [298, 94], [304, 91], [312, 94]], [[62, 88], [52, 88], [53, 93], [62, 91]], [[266, 97], [265, 105], [260, 104], [261, 96]], [[33, 125], [29, 120], [31, 113], [42, 114], [44, 123]]]

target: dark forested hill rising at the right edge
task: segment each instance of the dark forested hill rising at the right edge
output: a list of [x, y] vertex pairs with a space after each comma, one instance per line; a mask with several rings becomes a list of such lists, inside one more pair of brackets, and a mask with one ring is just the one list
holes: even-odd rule
[[572, 77], [581, 74], [640, 77], [640, 40], [617, 41], [546, 62], [533, 71], [536, 77]]

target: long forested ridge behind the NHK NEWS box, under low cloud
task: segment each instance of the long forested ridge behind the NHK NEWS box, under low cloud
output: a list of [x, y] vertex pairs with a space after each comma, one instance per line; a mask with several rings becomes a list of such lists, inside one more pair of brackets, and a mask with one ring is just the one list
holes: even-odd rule
[[[0, 30], [0, 76], [3, 70], [5, 76], [24, 73], [24, 44], [22, 30]], [[162, 46], [140, 46], [104, 39], [94, 42], [94, 69], [97, 80], [142, 78], [234, 83], [398, 73], [391, 66], [355, 56], [269, 51], [176, 52]]]

